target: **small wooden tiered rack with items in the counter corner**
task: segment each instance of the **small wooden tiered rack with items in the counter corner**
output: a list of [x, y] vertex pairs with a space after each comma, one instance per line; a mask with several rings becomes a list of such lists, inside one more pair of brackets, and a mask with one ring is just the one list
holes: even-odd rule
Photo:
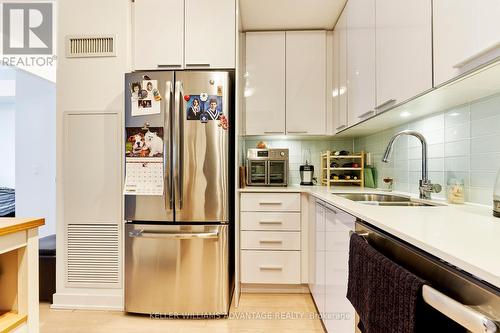
[[[332, 168], [330, 165], [333, 161], [341, 162], [358, 162], [359, 168], [344, 168], [337, 167]], [[365, 153], [357, 152], [352, 155], [334, 155], [333, 151], [327, 150], [321, 154], [321, 185], [332, 186], [332, 185], [358, 185], [364, 187], [365, 179]], [[358, 179], [330, 179], [332, 172], [340, 171], [341, 174], [349, 172], [350, 174], [355, 173]]]

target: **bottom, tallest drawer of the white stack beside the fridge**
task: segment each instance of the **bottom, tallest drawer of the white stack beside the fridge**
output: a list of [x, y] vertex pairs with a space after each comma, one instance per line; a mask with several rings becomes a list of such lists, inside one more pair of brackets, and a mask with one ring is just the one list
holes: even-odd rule
[[241, 282], [300, 283], [300, 251], [241, 251]]

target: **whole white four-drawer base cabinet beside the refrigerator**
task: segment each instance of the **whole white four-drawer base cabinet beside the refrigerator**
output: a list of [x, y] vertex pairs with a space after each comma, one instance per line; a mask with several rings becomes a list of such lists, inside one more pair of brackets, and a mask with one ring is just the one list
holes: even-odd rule
[[300, 284], [300, 193], [242, 193], [240, 207], [241, 282]]

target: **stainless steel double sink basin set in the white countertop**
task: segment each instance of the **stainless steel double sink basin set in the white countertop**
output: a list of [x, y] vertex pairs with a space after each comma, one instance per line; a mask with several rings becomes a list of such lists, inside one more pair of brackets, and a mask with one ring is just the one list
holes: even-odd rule
[[390, 207], [432, 207], [437, 204], [416, 201], [412, 198], [395, 194], [375, 194], [375, 193], [333, 193], [339, 197], [356, 201], [362, 204], [373, 206]]

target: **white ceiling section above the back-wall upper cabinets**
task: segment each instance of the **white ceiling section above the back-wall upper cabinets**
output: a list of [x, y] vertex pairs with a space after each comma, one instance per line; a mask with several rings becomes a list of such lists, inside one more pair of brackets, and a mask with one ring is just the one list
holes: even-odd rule
[[347, 0], [240, 0], [243, 31], [331, 30]]

